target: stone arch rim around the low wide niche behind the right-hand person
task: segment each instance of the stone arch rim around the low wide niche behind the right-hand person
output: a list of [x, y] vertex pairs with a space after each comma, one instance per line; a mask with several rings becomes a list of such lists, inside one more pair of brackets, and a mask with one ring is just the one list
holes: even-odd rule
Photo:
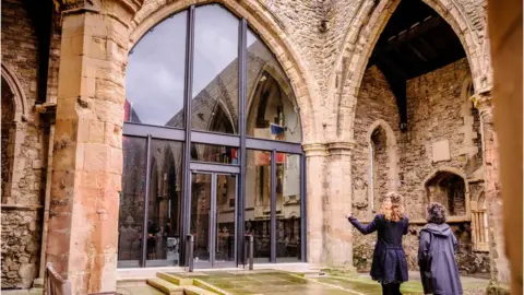
[[[432, 170], [428, 176], [422, 181], [422, 191], [426, 191], [427, 196], [425, 198], [425, 204], [424, 208], [426, 206], [427, 203], [431, 201], [431, 192], [430, 192], [430, 187], [433, 187], [436, 185], [440, 185], [439, 182], [441, 181], [442, 178], [449, 178], [449, 177], [455, 177], [461, 179], [461, 185], [464, 186], [464, 213], [463, 214], [452, 214], [452, 215], [461, 215], [461, 216], [467, 216], [469, 215], [469, 184], [466, 180], [466, 175], [454, 167], [449, 167], [449, 166], [441, 166], [434, 170]], [[449, 199], [446, 199], [449, 201]], [[448, 208], [448, 204], [443, 204], [444, 206]], [[461, 211], [462, 212], [462, 211]], [[450, 213], [451, 215], [451, 213]]]

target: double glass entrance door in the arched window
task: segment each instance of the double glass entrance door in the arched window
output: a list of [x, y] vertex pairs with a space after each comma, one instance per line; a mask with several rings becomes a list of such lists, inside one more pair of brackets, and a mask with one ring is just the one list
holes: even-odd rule
[[194, 268], [236, 267], [237, 175], [192, 172], [190, 233]]

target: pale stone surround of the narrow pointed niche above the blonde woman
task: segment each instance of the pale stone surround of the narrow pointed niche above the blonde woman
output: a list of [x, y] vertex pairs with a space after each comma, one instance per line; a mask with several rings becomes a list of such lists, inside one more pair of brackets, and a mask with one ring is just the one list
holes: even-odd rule
[[[382, 120], [378, 119], [376, 120], [369, 128], [368, 132], [366, 135], [366, 140], [368, 142], [368, 145], [370, 146], [369, 149], [369, 176], [370, 176], [370, 186], [371, 188], [369, 189], [369, 202], [371, 204], [374, 204], [377, 200], [379, 200], [380, 196], [376, 196], [374, 191], [374, 148], [371, 148], [374, 145], [373, 142], [373, 134], [374, 132], [383, 130], [385, 132], [385, 155], [388, 156], [388, 162], [386, 162], [386, 169], [388, 169], [388, 187], [386, 191], [396, 191], [398, 188], [398, 153], [397, 153], [397, 146], [396, 146], [396, 138], [393, 129], [391, 126]], [[385, 193], [385, 192], [384, 192]], [[373, 210], [377, 209], [377, 206], [372, 206]]]

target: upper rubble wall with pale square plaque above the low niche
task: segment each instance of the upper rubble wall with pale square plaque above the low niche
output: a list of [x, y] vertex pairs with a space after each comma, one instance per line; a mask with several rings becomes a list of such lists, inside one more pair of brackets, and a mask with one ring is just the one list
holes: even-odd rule
[[[469, 138], [480, 138], [478, 125], [472, 127], [475, 120], [465, 120], [462, 113], [463, 81], [468, 72], [468, 63], [462, 59], [407, 82], [408, 131], [401, 139], [401, 191], [412, 219], [424, 219], [424, 181], [437, 168], [456, 168], [468, 177], [481, 166], [479, 142], [473, 149], [465, 142], [467, 132]], [[468, 106], [475, 117], [473, 105]]]

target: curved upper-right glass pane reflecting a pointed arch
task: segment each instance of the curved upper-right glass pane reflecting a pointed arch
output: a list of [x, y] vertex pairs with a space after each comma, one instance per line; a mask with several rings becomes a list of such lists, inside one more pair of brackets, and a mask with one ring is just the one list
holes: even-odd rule
[[248, 30], [247, 135], [300, 142], [295, 96], [281, 64], [264, 43]]

